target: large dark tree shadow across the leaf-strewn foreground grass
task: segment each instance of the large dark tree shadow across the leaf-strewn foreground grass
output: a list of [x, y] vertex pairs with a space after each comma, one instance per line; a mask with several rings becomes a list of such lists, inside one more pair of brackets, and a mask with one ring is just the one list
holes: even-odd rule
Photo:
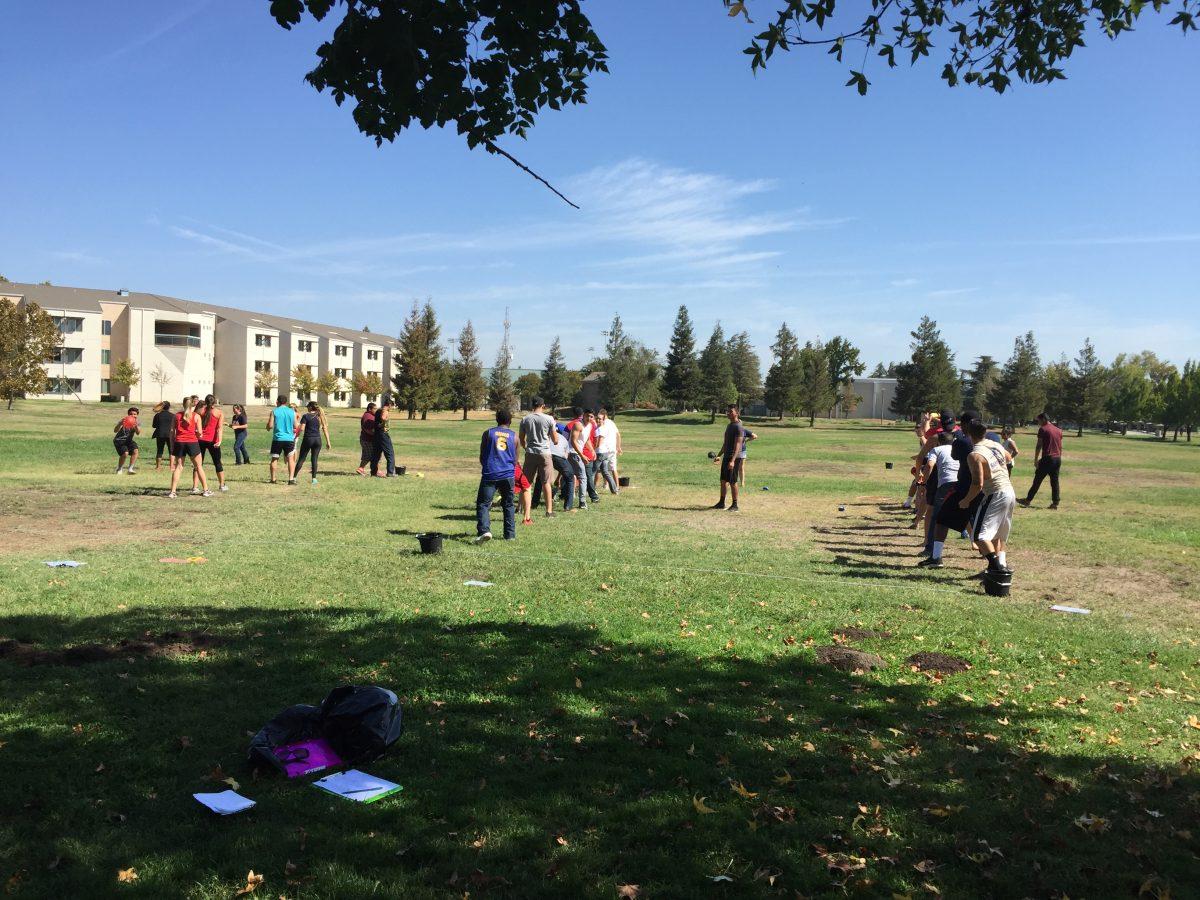
[[[25, 894], [108, 895], [130, 866], [122, 895], [143, 896], [228, 896], [248, 869], [272, 896], [611, 898], [637, 883], [694, 898], [718, 875], [787, 896], [1195, 883], [1193, 839], [1175, 830], [1194, 773], [1049, 752], [1039, 728], [1066, 713], [1034, 727], [1020, 704], [934, 703], [924, 679], [840, 673], [800, 647], [697, 656], [586, 626], [355, 607], [0, 619], [0, 635], [47, 648], [166, 628], [220, 643], [73, 668], [0, 658], [0, 866]], [[360, 806], [254, 779], [248, 736], [342, 682], [402, 695], [403, 737], [365, 768], [403, 794]], [[217, 818], [191, 799], [226, 775], [254, 810]]]

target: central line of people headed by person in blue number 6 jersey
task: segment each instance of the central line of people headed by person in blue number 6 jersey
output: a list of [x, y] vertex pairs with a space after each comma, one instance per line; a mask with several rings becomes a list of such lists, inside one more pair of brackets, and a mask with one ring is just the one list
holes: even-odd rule
[[[479, 445], [481, 476], [475, 497], [476, 540], [492, 539], [491, 509], [496, 494], [504, 510], [504, 538], [516, 535], [516, 500], [520, 497], [522, 523], [532, 524], [532, 510], [545, 504], [546, 517], [554, 514], [554, 497], [569, 512], [599, 503], [596, 481], [608, 492], [620, 493], [618, 457], [623, 452], [620, 430], [605, 407], [596, 410], [576, 407], [574, 418], [559, 422], [546, 412], [541, 397], [534, 397], [532, 412], [521, 420], [520, 436], [510, 427], [512, 413], [496, 412], [496, 426], [484, 432]], [[517, 460], [517, 450], [524, 454]], [[533, 479], [533, 481], [530, 481]], [[586, 499], [584, 499], [586, 498]]]

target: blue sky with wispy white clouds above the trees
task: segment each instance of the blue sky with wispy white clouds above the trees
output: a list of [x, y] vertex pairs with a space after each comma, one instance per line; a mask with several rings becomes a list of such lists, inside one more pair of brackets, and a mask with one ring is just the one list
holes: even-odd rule
[[[755, 0], [766, 17], [774, 0]], [[967, 365], [1200, 355], [1200, 38], [1147, 14], [1049, 88], [947, 89], [934, 61], [822, 53], [752, 76], [718, 0], [587, 0], [611, 52], [590, 102], [505, 146], [583, 209], [452, 133], [377, 149], [302, 82], [326, 25], [266, 0], [5, 4], [0, 272], [395, 332], [431, 298], [490, 359], [554, 335], [582, 364], [614, 312], [666, 349], [781, 320], [907, 355], [923, 314]]]

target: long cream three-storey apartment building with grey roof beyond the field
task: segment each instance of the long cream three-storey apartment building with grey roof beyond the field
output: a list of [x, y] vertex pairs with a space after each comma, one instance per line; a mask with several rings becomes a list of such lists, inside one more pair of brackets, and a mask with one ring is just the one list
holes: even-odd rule
[[[38, 397], [152, 403], [216, 394], [226, 403], [268, 404], [286, 394], [331, 407], [362, 406], [378, 396], [355, 391], [355, 373], [378, 376], [383, 391], [390, 390], [398, 350], [394, 338], [370, 331], [160, 294], [2, 283], [0, 299], [36, 302], [62, 332]], [[136, 385], [113, 379], [125, 359], [139, 370]], [[300, 366], [314, 377], [332, 372], [337, 390], [301, 391], [293, 377]], [[263, 372], [272, 377], [264, 380]]]

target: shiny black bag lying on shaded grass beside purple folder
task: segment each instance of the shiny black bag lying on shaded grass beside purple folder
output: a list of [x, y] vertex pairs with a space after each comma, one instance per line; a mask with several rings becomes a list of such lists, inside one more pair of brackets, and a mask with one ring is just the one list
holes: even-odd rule
[[250, 742], [251, 766], [283, 772], [278, 746], [324, 738], [349, 766], [370, 762], [396, 743], [403, 730], [400, 701], [386, 688], [335, 688], [319, 707], [288, 707], [264, 725]]

